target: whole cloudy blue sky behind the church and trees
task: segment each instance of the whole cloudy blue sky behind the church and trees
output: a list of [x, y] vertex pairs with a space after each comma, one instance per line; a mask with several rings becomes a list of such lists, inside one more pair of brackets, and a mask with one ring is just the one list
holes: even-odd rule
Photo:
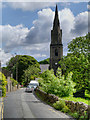
[[[18, 0], [20, 1], [20, 0]], [[50, 57], [51, 29], [58, 6], [62, 29], [63, 54], [68, 43], [88, 33], [88, 1], [32, 2], [4, 0], [0, 3], [0, 60], [2, 66], [11, 57], [30, 55], [38, 61]], [[60, 0], [62, 1], [62, 0]]]

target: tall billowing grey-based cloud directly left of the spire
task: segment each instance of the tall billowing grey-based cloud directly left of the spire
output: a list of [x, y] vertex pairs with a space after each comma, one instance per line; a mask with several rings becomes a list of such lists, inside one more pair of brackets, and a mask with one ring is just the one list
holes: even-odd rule
[[33, 22], [26, 37], [26, 43], [39, 44], [50, 42], [51, 27], [53, 24], [54, 12], [48, 8], [38, 12], [38, 19]]

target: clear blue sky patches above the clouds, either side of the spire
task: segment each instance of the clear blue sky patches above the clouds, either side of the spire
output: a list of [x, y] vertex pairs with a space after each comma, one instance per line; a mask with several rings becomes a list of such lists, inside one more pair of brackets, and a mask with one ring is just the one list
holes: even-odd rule
[[[7, 3], [3, 3], [7, 5]], [[17, 3], [18, 4], [18, 3]], [[80, 12], [87, 11], [87, 2], [80, 3], [58, 3], [58, 10], [62, 10], [64, 8], [69, 8], [73, 12], [74, 16], [79, 14]], [[47, 7], [46, 7], [47, 8]], [[53, 11], [54, 7], [50, 7]], [[39, 10], [34, 11], [22, 11], [20, 8], [12, 9], [9, 5], [2, 9], [2, 25], [10, 24], [12, 26], [23, 24], [25, 27], [32, 27], [33, 20], [37, 19], [37, 12]]]

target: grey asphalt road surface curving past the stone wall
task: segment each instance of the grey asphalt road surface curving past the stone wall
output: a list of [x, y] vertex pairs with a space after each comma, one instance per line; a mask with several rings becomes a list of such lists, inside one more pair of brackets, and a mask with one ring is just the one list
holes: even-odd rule
[[[8, 93], [4, 98], [4, 119], [5, 118], [21, 118], [26, 120], [27, 118], [34, 118], [46, 120], [46, 118], [55, 118], [55, 120], [61, 120], [66, 118], [69, 120], [71, 117], [55, 110], [51, 106], [43, 103], [33, 93], [25, 92], [25, 88], [21, 88], [17, 91]], [[56, 119], [57, 118], [57, 119]]]

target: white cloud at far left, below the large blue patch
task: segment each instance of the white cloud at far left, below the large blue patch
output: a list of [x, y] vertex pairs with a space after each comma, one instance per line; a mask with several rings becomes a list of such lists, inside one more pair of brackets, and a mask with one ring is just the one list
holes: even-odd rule
[[2, 30], [2, 47], [6, 52], [21, 46], [29, 32], [28, 28], [23, 27], [23, 25], [0, 25], [0, 30]]

